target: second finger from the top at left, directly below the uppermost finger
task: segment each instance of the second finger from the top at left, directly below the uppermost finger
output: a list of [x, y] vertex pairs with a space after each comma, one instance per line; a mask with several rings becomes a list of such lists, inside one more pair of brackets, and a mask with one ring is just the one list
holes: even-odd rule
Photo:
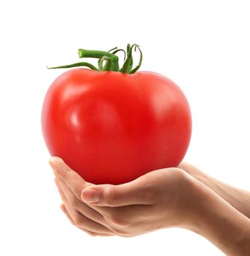
[[63, 192], [63, 196], [66, 197], [67, 202], [71, 205], [72, 208], [74, 208], [76, 211], [79, 211], [82, 215], [89, 219], [93, 219], [93, 221], [101, 223], [104, 225], [104, 218], [101, 214], [99, 214], [97, 211], [95, 211], [93, 208], [90, 208], [85, 203], [82, 202], [82, 200], [79, 200], [73, 192], [71, 192], [71, 189], [62, 181], [60, 178], [57, 180], [61, 191]]

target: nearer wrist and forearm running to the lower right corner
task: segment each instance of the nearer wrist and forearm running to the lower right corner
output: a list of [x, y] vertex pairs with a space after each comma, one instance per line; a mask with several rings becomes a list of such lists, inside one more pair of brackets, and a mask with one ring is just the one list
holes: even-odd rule
[[207, 238], [226, 255], [248, 255], [250, 220], [208, 187], [195, 186], [200, 201], [189, 229]]

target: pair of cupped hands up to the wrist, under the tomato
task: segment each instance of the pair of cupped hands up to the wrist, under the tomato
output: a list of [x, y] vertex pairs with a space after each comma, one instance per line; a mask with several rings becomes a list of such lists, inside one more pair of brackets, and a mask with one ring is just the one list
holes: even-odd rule
[[192, 229], [198, 221], [203, 185], [179, 168], [155, 170], [114, 186], [87, 183], [57, 157], [50, 162], [61, 208], [72, 224], [93, 236], [138, 236], [164, 227]]

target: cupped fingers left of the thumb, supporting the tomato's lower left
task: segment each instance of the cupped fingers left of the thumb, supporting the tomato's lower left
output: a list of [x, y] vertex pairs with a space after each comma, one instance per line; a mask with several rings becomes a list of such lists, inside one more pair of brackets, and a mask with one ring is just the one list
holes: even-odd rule
[[60, 208], [71, 224], [79, 227], [80, 230], [85, 231], [90, 236], [114, 235], [112, 230], [108, 230], [100, 224], [103, 222], [102, 215], [95, 211], [94, 207], [91, 208], [82, 203], [82, 190], [93, 184], [85, 181], [78, 173], [71, 170], [59, 157], [52, 157], [49, 162], [55, 173], [55, 184], [63, 200]]

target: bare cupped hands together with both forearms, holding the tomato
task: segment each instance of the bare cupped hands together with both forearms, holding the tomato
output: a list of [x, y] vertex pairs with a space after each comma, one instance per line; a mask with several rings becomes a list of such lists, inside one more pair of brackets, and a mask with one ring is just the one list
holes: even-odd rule
[[[52, 157], [60, 208], [91, 236], [138, 236], [167, 227], [192, 230], [226, 255], [249, 255], [249, 192], [187, 163], [121, 185], [90, 184]], [[178, 188], [178, 189], [176, 189]]]

